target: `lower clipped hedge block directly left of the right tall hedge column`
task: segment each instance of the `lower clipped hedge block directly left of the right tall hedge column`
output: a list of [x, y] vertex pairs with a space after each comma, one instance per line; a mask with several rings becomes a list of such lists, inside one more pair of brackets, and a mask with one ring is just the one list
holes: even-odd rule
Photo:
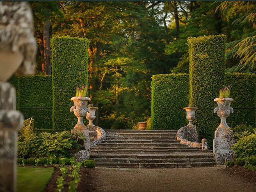
[[185, 126], [188, 106], [188, 74], [154, 75], [151, 82], [151, 128], [179, 129]]

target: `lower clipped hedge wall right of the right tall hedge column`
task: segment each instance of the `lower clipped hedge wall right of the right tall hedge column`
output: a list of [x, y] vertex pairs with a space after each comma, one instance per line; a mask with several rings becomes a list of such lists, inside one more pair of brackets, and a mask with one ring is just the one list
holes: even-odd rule
[[255, 126], [256, 107], [256, 75], [246, 73], [226, 73], [226, 85], [231, 85], [230, 97], [234, 99], [231, 106], [234, 113], [227, 118], [230, 127], [239, 124]]

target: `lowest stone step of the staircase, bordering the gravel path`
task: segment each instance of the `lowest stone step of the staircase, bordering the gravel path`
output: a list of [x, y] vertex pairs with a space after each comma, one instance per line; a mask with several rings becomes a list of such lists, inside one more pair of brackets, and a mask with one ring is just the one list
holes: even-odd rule
[[105, 163], [99, 162], [96, 167], [112, 168], [190, 168], [214, 166], [215, 162], [191, 162], [191, 163]]

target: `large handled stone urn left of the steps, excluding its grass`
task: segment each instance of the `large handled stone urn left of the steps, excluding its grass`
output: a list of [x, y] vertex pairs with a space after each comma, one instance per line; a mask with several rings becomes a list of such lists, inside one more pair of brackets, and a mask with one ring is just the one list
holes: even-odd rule
[[87, 112], [90, 112], [90, 108], [87, 104], [91, 99], [88, 97], [72, 97], [70, 100], [74, 102], [74, 106], [70, 108], [70, 112], [74, 112], [75, 116], [78, 118], [74, 129], [82, 130], [83, 128], [86, 128], [83, 118], [86, 116]]

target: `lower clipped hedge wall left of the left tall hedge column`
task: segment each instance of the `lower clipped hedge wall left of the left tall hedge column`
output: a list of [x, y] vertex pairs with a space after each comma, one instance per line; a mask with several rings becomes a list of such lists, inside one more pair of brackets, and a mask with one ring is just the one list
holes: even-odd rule
[[25, 119], [33, 116], [35, 128], [52, 128], [52, 76], [21, 77], [19, 106]]

